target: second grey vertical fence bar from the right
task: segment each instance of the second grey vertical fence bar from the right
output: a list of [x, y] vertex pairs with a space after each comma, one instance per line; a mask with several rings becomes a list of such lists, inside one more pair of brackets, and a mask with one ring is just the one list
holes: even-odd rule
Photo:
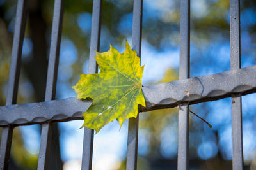
[[[179, 78], [189, 78], [190, 71], [190, 0], [180, 0], [180, 71]], [[179, 108], [178, 169], [188, 169], [189, 104]]]

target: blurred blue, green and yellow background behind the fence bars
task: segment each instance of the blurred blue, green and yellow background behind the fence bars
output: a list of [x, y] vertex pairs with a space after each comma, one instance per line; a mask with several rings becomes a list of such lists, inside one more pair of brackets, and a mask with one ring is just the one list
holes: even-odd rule
[[[15, 24], [15, 0], [0, 0], [0, 104], [6, 100]], [[131, 0], [104, 0], [100, 52], [109, 43], [124, 52], [131, 45]], [[230, 2], [191, 0], [191, 77], [230, 69]], [[51, 40], [53, 0], [29, 0], [18, 104], [44, 101], [47, 59]], [[179, 0], [144, 0], [141, 64], [143, 85], [179, 78]], [[256, 1], [241, 1], [242, 67], [256, 62]], [[88, 72], [92, 0], [66, 0], [60, 47], [57, 99], [75, 97], [70, 86]], [[256, 169], [255, 94], [243, 96], [243, 150], [245, 169]], [[232, 135], [230, 98], [200, 103], [190, 115], [189, 169], [231, 169]], [[177, 108], [140, 113], [138, 169], [177, 168]], [[81, 169], [83, 120], [59, 123], [63, 169]], [[56, 139], [58, 139], [56, 138]], [[127, 121], [106, 125], [95, 135], [93, 169], [125, 169]], [[40, 125], [15, 128], [12, 169], [36, 169]]]

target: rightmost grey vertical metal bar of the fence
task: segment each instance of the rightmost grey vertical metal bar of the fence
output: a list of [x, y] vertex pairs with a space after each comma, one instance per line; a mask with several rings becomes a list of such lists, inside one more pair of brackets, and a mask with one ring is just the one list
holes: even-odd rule
[[[241, 68], [240, 0], [230, 0], [230, 69]], [[232, 167], [243, 169], [243, 116], [241, 94], [232, 95]]]

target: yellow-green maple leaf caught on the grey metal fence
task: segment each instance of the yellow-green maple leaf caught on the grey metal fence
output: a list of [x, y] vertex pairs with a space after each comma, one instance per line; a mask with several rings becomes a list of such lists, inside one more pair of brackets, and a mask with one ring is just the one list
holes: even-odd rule
[[83, 113], [82, 127], [95, 129], [96, 133], [109, 122], [118, 120], [120, 127], [127, 118], [138, 115], [138, 104], [145, 106], [141, 90], [143, 67], [140, 58], [126, 41], [125, 52], [119, 53], [110, 45], [108, 52], [96, 52], [99, 74], [81, 74], [72, 87], [77, 98], [93, 99]]

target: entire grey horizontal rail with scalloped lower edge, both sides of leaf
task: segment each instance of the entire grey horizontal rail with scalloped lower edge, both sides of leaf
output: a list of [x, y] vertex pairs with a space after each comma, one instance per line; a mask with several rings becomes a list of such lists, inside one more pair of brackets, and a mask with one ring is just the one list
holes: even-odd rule
[[[192, 87], [191, 87], [192, 85]], [[146, 107], [140, 111], [173, 108], [179, 103], [196, 104], [256, 92], [256, 65], [218, 74], [143, 87]], [[189, 91], [188, 93], [185, 91]], [[40, 103], [0, 106], [0, 126], [63, 122], [83, 119], [91, 100], [76, 97]]]

